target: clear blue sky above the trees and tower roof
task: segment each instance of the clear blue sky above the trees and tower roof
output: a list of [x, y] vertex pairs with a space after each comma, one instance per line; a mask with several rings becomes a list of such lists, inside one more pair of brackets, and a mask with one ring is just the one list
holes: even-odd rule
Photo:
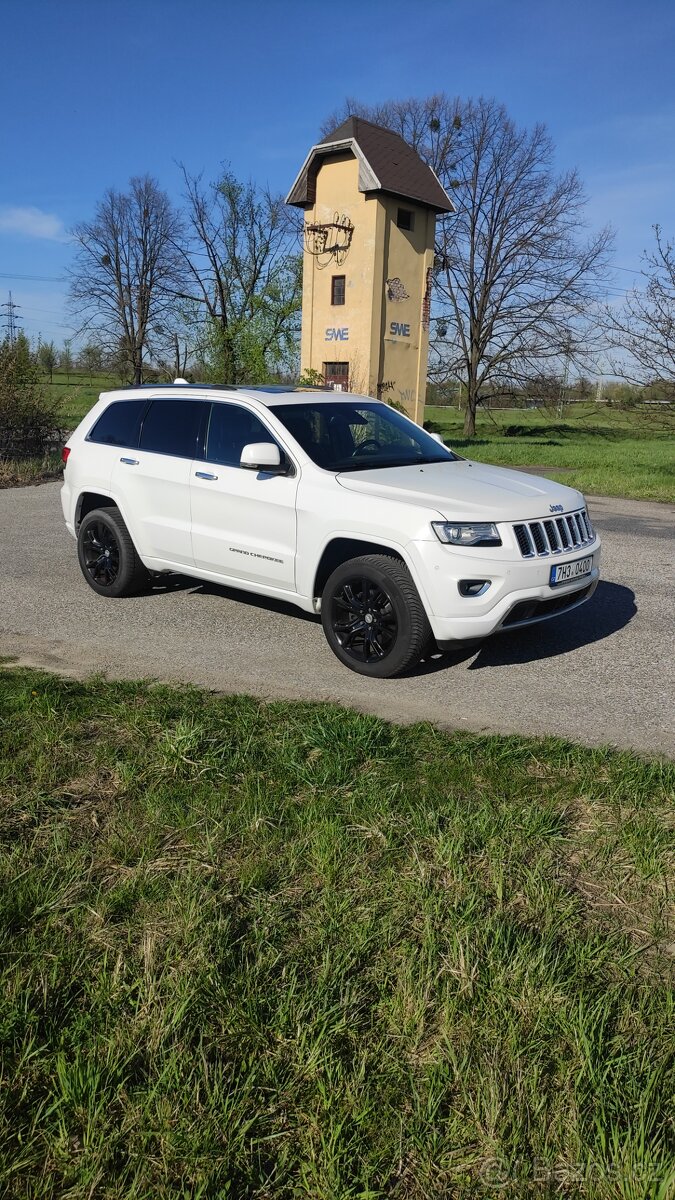
[[[109, 186], [227, 162], [286, 191], [344, 98], [496, 96], [544, 121], [614, 292], [659, 222], [675, 235], [673, 0], [0, 0], [0, 300], [68, 336], [68, 228]], [[38, 280], [20, 276], [41, 276]]]

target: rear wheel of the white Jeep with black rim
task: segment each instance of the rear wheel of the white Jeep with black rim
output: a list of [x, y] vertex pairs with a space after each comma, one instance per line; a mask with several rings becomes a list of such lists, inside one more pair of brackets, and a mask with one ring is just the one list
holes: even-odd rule
[[136, 553], [119, 509], [92, 509], [79, 526], [82, 574], [102, 596], [132, 596], [148, 587], [149, 572]]

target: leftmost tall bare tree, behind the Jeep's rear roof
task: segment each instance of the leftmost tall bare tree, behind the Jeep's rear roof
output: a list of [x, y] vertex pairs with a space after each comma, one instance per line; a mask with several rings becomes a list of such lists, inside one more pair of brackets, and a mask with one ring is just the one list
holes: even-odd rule
[[149, 175], [130, 180], [127, 192], [110, 188], [92, 221], [73, 229], [71, 304], [79, 334], [94, 336], [108, 353], [121, 353], [129, 378], [143, 380], [153, 323], [168, 319], [180, 280], [177, 250], [181, 223], [166, 192]]

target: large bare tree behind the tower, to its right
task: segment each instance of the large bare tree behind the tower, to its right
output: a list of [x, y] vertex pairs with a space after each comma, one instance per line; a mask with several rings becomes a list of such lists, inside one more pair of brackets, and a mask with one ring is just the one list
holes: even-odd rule
[[580, 235], [577, 172], [556, 176], [545, 127], [518, 128], [494, 100], [347, 107], [395, 128], [453, 197], [437, 227], [430, 376], [464, 382], [472, 437], [480, 402], [597, 353], [611, 232]]

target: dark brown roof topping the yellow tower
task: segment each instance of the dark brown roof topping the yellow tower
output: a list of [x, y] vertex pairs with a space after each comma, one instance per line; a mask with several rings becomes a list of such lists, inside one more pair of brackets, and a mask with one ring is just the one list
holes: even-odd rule
[[435, 212], [454, 211], [449, 196], [417, 151], [393, 130], [374, 125], [363, 116], [350, 116], [323, 142], [312, 146], [288, 193], [287, 204], [299, 208], [313, 204], [316, 174], [321, 163], [339, 149], [353, 150], [353, 143], [364, 160], [364, 174], [359, 178], [360, 191], [390, 192], [424, 204]]

